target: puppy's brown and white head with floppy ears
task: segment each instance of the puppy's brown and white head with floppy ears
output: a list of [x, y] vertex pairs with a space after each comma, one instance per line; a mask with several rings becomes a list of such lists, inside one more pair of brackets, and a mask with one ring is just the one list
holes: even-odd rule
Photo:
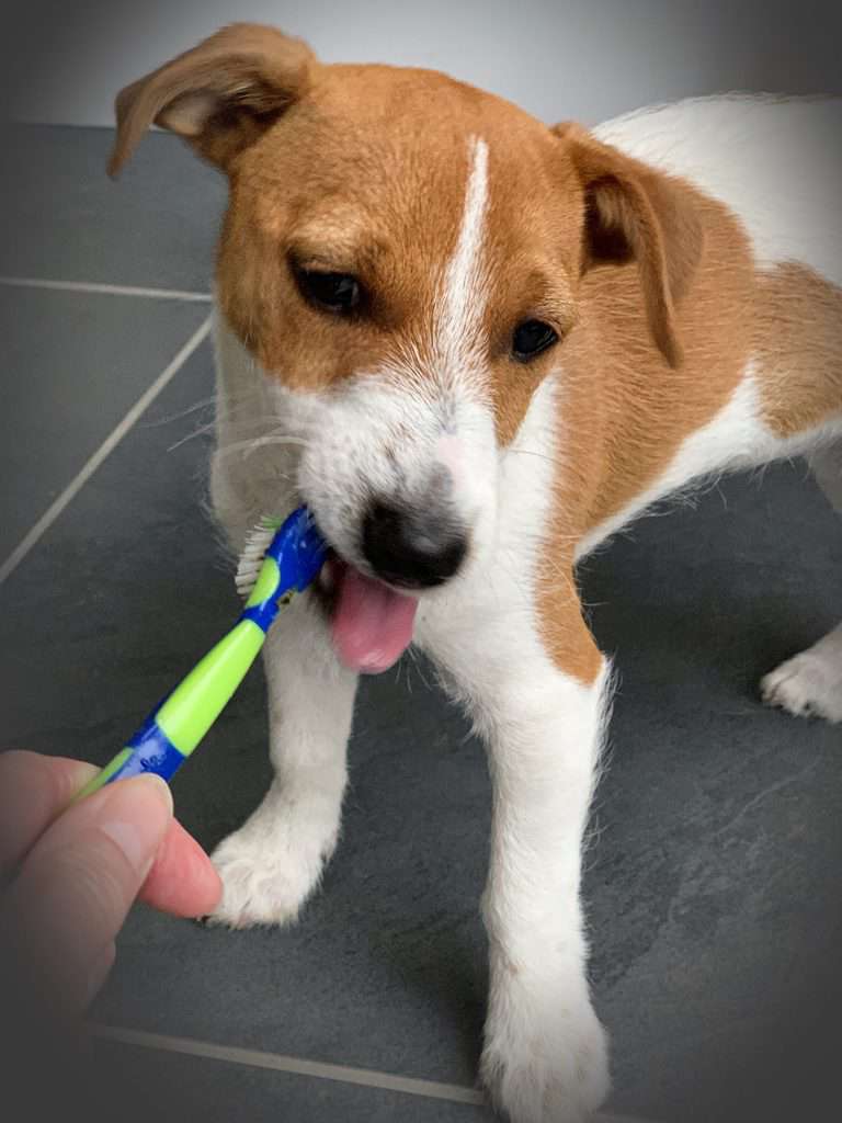
[[219, 302], [360, 574], [419, 591], [488, 546], [500, 457], [564, 373], [589, 271], [637, 259], [655, 346], [679, 360], [686, 216], [576, 126], [438, 73], [322, 65], [251, 25], [122, 91], [113, 172], [152, 122], [228, 175]]

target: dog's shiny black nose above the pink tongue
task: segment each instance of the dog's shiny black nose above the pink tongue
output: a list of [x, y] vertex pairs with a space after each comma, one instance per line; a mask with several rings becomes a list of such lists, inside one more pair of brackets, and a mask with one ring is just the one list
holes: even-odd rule
[[417, 510], [376, 501], [363, 520], [363, 554], [392, 585], [441, 585], [456, 574], [467, 550], [467, 533], [437, 504]]

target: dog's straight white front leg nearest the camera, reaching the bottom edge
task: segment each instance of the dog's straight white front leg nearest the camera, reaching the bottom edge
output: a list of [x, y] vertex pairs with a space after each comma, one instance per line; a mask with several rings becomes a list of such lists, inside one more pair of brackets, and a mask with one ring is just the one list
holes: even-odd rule
[[582, 1123], [608, 1088], [579, 895], [607, 666], [578, 610], [565, 621], [566, 657], [548, 655], [531, 626], [523, 634], [522, 614], [494, 617], [489, 604], [478, 627], [466, 621], [439, 660], [485, 737], [493, 782], [482, 1076], [513, 1123]]

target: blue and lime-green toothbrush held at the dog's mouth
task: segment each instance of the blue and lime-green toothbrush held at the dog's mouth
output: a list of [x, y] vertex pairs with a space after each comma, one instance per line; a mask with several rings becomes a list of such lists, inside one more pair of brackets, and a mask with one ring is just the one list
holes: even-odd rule
[[250, 593], [234, 628], [148, 715], [126, 747], [76, 795], [140, 773], [168, 780], [228, 704], [257, 658], [282, 604], [319, 574], [327, 547], [306, 508], [278, 526], [265, 519], [249, 536], [237, 587]]

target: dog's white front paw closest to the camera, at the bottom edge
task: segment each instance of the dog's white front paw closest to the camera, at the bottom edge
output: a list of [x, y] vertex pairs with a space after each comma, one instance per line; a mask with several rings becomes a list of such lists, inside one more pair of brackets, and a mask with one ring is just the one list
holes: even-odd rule
[[489, 1016], [481, 1076], [492, 1102], [511, 1123], [585, 1123], [611, 1086], [605, 1031], [587, 998], [529, 1014], [515, 1001]]

